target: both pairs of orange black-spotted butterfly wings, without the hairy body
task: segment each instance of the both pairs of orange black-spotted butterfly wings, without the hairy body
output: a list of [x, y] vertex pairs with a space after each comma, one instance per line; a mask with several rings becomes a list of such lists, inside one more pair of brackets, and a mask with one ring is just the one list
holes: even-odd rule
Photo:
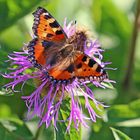
[[[29, 43], [28, 52], [31, 63], [35, 67], [40, 68], [42, 65], [46, 65], [48, 58], [52, 57], [51, 59], [54, 60], [53, 57], [55, 56], [51, 56], [50, 52], [48, 57], [46, 50], [48, 51], [48, 48], [52, 47], [54, 42], [59, 44], [58, 47], [60, 47], [67, 36], [47, 10], [39, 7], [33, 15], [35, 17], [33, 31], [38, 38], [33, 39]], [[57, 81], [72, 80], [75, 77], [78, 79], [95, 79], [98, 81], [107, 78], [105, 70], [96, 61], [83, 53], [76, 53], [71, 58], [66, 58], [62, 62], [55, 63], [48, 70], [48, 75], [51, 79]]]

